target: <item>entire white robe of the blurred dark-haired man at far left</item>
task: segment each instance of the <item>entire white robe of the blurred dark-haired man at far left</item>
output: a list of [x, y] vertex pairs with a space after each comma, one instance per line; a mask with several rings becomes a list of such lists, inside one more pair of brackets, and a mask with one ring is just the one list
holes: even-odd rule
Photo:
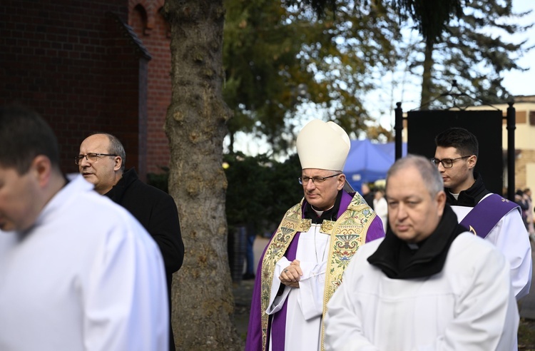
[[0, 350], [168, 350], [163, 260], [81, 175], [26, 233], [0, 230]]

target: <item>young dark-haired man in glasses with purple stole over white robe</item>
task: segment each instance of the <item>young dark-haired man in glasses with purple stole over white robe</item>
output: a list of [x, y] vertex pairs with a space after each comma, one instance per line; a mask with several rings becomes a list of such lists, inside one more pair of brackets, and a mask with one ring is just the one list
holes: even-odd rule
[[481, 174], [474, 171], [479, 158], [474, 134], [464, 128], [449, 128], [434, 141], [437, 148], [432, 161], [444, 180], [446, 203], [461, 225], [504, 254], [516, 300], [520, 300], [529, 293], [532, 263], [519, 206], [487, 190]]

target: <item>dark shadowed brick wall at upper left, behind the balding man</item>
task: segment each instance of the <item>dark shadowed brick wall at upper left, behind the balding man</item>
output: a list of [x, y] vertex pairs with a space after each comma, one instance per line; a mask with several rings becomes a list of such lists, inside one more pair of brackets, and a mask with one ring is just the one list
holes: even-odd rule
[[110, 12], [125, 22], [127, 0], [0, 4], [0, 104], [22, 103], [49, 121], [66, 172], [77, 171], [83, 138], [107, 131], [125, 143], [127, 167], [145, 173], [146, 59]]

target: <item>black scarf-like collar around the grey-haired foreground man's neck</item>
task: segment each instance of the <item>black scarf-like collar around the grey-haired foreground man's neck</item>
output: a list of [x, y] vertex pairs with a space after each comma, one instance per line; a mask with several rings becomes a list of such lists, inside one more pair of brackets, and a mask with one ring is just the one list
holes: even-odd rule
[[453, 240], [465, 231], [457, 223], [452, 208], [446, 205], [439, 225], [427, 239], [417, 244], [417, 249], [409, 248], [389, 229], [368, 262], [391, 279], [426, 278], [442, 271]]

